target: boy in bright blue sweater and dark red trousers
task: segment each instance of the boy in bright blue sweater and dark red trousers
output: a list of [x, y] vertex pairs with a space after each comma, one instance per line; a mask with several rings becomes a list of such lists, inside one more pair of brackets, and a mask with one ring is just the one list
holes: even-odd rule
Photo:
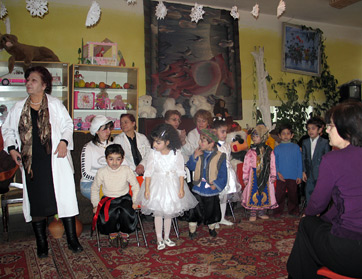
[[274, 217], [283, 214], [286, 190], [288, 190], [288, 213], [298, 215], [298, 184], [303, 177], [302, 153], [300, 147], [291, 142], [294, 134], [290, 124], [280, 125], [278, 136], [281, 143], [275, 147], [274, 154], [277, 170], [275, 195], [279, 207], [274, 209]]

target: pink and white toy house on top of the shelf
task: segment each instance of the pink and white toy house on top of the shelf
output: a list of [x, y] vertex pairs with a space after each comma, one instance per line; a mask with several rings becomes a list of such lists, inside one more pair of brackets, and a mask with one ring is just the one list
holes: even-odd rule
[[[112, 53], [107, 56], [107, 51]], [[89, 64], [117, 66], [117, 44], [112, 42], [87, 42], [83, 46], [83, 60]]]

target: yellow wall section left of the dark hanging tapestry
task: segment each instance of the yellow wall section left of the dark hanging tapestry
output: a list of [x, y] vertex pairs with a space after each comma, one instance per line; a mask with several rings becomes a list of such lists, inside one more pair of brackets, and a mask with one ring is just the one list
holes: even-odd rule
[[[126, 66], [131, 67], [134, 62], [135, 67], [139, 68], [139, 92], [145, 94], [142, 15], [102, 9], [98, 24], [87, 28], [85, 21], [89, 6], [49, 3], [49, 13], [41, 19], [30, 16], [25, 9], [25, 1], [5, 4], [10, 17], [11, 33], [18, 37], [19, 42], [46, 46], [63, 62], [78, 63], [78, 48], [81, 47], [82, 38], [84, 44], [88, 41], [100, 42], [105, 38], [117, 43], [125, 58]], [[0, 25], [0, 32], [5, 33], [4, 24]], [[8, 57], [5, 51], [0, 53], [0, 60], [7, 60]]]

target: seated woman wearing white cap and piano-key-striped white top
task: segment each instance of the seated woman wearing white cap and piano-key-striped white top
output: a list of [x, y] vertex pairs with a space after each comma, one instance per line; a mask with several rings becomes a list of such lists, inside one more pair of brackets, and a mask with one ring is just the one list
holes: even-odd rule
[[104, 150], [110, 144], [113, 122], [104, 115], [93, 118], [90, 133], [93, 139], [86, 143], [81, 154], [80, 191], [87, 199], [91, 199], [91, 186], [97, 170], [107, 165]]

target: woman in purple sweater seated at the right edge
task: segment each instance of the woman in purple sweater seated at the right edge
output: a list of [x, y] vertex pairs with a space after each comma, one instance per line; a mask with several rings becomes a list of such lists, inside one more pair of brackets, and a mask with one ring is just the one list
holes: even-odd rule
[[322, 266], [362, 278], [362, 103], [339, 104], [326, 121], [330, 145], [339, 150], [324, 155], [320, 164], [287, 263], [293, 279], [318, 278]]

